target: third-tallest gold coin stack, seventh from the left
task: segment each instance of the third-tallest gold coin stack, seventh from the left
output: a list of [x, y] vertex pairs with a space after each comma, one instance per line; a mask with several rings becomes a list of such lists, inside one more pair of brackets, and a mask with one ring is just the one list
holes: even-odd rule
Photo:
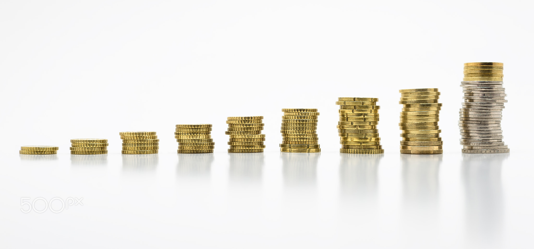
[[377, 98], [337, 98], [340, 105], [339, 132], [342, 153], [351, 154], [382, 154], [378, 134], [380, 106]]

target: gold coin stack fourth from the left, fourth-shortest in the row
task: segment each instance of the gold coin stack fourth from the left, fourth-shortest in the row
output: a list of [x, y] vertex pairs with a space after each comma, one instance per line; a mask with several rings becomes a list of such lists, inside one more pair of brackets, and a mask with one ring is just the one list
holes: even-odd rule
[[211, 124], [176, 125], [174, 137], [178, 142], [178, 153], [213, 153], [215, 143], [211, 138]]

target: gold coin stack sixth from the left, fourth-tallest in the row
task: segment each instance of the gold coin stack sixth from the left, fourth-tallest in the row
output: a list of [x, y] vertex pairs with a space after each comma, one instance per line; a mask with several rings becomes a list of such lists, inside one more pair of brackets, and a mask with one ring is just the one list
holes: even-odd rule
[[317, 137], [317, 109], [282, 109], [281, 152], [321, 152]]

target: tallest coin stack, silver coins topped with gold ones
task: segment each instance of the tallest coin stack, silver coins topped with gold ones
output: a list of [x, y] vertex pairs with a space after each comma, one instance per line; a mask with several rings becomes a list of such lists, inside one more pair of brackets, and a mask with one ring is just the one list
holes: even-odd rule
[[503, 64], [472, 62], [464, 64], [464, 103], [460, 109], [460, 144], [464, 153], [510, 152], [502, 141], [502, 109], [506, 93], [502, 87]]

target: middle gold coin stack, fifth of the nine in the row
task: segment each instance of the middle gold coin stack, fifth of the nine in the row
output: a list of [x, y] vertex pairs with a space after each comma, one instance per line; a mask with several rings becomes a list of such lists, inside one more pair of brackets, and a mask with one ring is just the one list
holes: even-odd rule
[[250, 153], [263, 152], [265, 134], [263, 130], [263, 116], [228, 117], [227, 135], [230, 135], [228, 152]]

